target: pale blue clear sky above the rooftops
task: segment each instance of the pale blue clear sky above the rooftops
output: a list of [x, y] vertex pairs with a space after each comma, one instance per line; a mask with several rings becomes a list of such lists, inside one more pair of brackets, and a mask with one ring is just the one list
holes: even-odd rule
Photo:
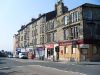
[[[0, 0], [0, 50], [13, 50], [13, 35], [22, 25], [41, 13], [54, 10], [57, 0]], [[84, 3], [100, 5], [100, 0], [63, 0], [69, 10]]]

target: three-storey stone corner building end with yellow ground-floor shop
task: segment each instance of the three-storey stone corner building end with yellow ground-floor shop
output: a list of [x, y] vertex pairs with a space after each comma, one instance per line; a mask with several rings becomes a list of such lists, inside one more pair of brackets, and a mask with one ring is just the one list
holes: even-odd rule
[[100, 5], [83, 4], [64, 14], [62, 40], [59, 41], [61, 60], [100, 60]]

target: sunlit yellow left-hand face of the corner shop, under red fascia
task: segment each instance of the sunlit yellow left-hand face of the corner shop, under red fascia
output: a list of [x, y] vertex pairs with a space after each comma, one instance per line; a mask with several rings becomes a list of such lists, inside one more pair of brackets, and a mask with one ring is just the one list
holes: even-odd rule
[[79, 44], [76, 40], [59, 42], [59, 49], [59, 60], [72, 62], [80, 60]]

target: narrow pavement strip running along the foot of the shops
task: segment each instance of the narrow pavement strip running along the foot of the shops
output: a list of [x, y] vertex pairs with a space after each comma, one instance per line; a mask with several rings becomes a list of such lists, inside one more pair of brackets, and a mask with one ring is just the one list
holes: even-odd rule
[[71, 64], [71, 65], [100, 65], [100, 62], [67, 62], [67, 61], [50, 61], [50, 60], [38, 60], [38, 59], [19, 59], [19, 58], [10, 58], [15, 61], [19, 61], [22, 63], [27, 62], [54, 62], [54, 63], [61, 63], [61, 64]]

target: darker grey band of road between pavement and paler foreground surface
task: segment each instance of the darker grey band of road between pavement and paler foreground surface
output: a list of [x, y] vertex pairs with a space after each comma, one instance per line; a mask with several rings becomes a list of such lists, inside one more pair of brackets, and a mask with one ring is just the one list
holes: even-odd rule
[[[0, 58], [0, 68], [12, 68], [15, 66], [40, 65], [56, 68], [64, 71], [80, 72], [87, 75], [100, 75], [100, 64], [62, 64], [57, 62], [29, 61], [27, 59]], [[6, 68], [7, 69], [7, 68]]]

